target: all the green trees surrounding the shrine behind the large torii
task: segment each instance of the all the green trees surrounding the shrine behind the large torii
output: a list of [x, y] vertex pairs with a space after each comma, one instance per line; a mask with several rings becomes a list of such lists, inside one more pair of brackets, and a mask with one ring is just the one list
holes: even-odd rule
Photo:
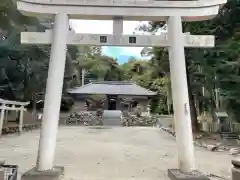
[[[185, 50], [191, 114], [195, 119], [196, 112], [201, 115], [203, 111], [213, 113], [224, 110], [232, 114], [235, 120], [240, 120], [239, 16], [240, 1], [229, 0], [214, 19], [183, 23], [185, 32], [216, 37], [215, 48]], [[20, 44], [20, 32], [33, 28], [36, 31], [45, 29], [38, 19], [20, 14], [12, 1], [1, 0], [0, 89], [8, 87], [15, 93], [19, 92], [16, 94], [25, 100], [31, 99], [33, 92], [44, 91], [50, 54], [49, 46]], [[140, 29], [156, 32], [159, 28], [165, 30], [165, 22], [150, 22], [149, 26]], [[168, 51], [165, 48], [144, 48], [142, 55], [151, 56], [150, 61], [132, 58], [123, 65], [103, 56], [99, 46], [69, 46], [68, 53], [67, 76], [76, 70], [77, 79], [72, 81], [69, 78], [71, 86], [79, 84], [82, 69], [86, 70], [86, 77], [99, 80], [133, 80], [158, 93], [152, 101], [153, 112], [172, 112]], [[69, 84], [66, 82], [67, 88]], [[220, 91], [220, 109], [216, 106], [216, 89]]]

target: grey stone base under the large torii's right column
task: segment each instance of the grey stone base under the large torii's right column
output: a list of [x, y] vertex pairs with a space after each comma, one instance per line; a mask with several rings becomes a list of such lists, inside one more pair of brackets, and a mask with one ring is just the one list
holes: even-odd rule
[[170, 180], [210, 180], [200, 172], [194, 172], [193, 174], [184, 174], [179, 169], [168, 169], [168, 177]]

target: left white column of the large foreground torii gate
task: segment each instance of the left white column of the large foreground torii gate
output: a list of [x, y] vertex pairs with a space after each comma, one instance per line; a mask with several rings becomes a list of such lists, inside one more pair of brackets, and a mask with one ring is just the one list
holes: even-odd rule
[[38, 150], [38, 171], [51, 170], [53, 168], [62, 98], [68, 31], [68, 16], [66, 14], [55, 15], [43, 121]]

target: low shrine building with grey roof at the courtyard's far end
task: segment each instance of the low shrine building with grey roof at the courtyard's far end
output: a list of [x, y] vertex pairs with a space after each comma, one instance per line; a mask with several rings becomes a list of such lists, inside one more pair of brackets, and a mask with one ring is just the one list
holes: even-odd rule
[[71, 89], [68, 93], [76, 100], [74, 106], [76, 111], [84, 108], [87, 99], [91, 98], [91, 95], [104, 95], [104, 110], [130, 111], [132, 107], [139, 104], [147, 112], [150, 97], [156, 95], [155, 92], [129, 81], [92, 81], [87, 85]]

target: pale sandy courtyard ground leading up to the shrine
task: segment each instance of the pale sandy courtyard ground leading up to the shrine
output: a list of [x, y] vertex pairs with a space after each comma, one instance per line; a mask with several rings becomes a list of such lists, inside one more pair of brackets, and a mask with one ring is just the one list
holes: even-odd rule
[[[18, 164], [20, 173], [36, 162], [39, 130], [0, 139], [0, 159]], [[232, 156], [196, 148], [198, 168], [230, 176]], [[66, 180], [165, 180], [177, 167], [176, 142], [168, 133], [150, 127], [59, 128], [56, 164], [64, 165]]]

